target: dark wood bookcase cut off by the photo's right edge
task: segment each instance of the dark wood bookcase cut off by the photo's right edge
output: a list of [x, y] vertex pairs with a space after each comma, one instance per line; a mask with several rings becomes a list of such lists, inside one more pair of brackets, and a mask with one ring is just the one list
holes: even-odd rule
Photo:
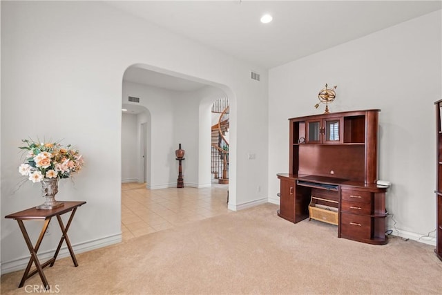
[[442, 260], [442, 100], [436, 105], [436, 252]]

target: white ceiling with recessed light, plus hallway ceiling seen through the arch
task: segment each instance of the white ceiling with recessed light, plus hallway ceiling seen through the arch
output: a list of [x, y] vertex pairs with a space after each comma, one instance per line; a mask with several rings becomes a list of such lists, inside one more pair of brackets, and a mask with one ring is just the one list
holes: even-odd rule
[[[441, 0], [106, 3], [263, 68], [280, 66], [442, 9]], [[265, 13], [273, 16], [271, 23], [260, 23]], [[173, 91], [193, 91], [204, 86], [136, 67], [126, 70], [124, 80]]]

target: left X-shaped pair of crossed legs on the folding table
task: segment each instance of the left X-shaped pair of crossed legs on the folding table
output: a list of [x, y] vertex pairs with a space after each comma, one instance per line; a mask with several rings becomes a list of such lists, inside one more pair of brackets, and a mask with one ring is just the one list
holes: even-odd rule
[[44, 234], [46, 234], [46, 229], [48, 229], [50, 218], [48, 218], [48, 219], [46, 219], [44, 221], [43, 228], [41, 229], [40, 236], [39, 236], [39, 238], [37, 240], [37, 243], [35, 244], [35, 247], [32, 247], [32, 242], [30, 241], [30, 238], [29, 238], [29, 235], [28, 235], [28, 231], [26, 231], [25, 225], [23, 225], [23, 221], [17, 219], [17, 222], [19, 222], [19, 227], [21, 229], [21, 234], [23, 234], [23, 238], [25, 238], [26, 245], [28, 246], [28, 249], [30, 251], [30, 259], [29, 259], [29, 262], [28, 262], [28, 266], [26, 267], [25, 273], [23, 274], [23, 277], [21, 278], [21, 281], [20, 281], [20, 284], [19, 284], [19, 288], [23, 287], [25, 281], [28, 278], [30, 278], [30, 276], [35, 274], [35, 272], [33, 272], [33, 274], [28, 276], [29, 271], [30, 271], [30, 267], [32, 266], [32, 263], [35, 263], [35, 267], [37, 267], [37, 272], [39, 273], [39, 276], [41, 278], [41, 282], [43, 282], [45, 289], [49, 289], [48, 280], [46, 280], [46, 276], [44, 275], [44, 272], [43, 272], [43, 267], [41, 267], [41, 265], [39, 263], [39, 258], [37, 257], [37, 251], [39, 251], [39, 247], [40, 247], [41, 241], [44, 238]]

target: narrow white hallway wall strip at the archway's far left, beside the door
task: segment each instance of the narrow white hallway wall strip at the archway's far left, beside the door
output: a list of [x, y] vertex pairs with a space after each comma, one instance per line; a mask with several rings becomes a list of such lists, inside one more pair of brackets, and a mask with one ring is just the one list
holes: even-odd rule
[[140, 126], [137, 115], [122, 114], [122, 182], [137, 182], [140, 166]]

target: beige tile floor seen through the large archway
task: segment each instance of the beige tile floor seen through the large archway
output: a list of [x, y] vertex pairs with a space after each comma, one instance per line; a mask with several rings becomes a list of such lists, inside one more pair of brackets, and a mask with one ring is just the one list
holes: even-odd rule
[[146, 189], [146, 184], [122, 184], [123, 241], [169, 229], [185, 222], [229, 213], [227, 184], [195, 189]]

